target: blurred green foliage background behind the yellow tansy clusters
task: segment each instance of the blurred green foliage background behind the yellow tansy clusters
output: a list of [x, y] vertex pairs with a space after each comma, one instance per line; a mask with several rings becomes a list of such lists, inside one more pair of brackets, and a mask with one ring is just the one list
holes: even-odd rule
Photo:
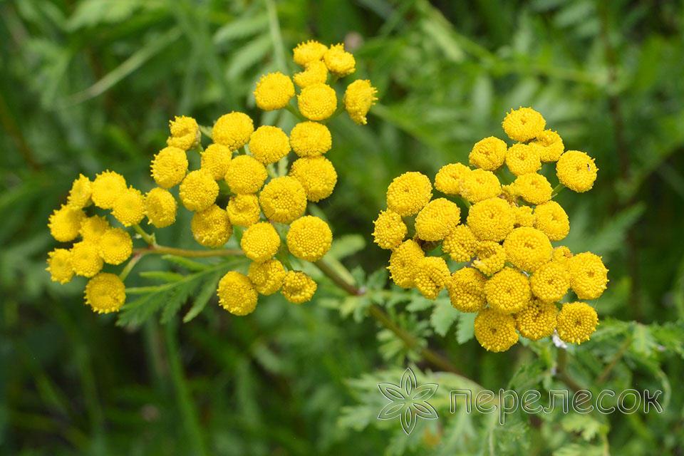
[[[15, 0], [0, 12], [1, 454], [684, 454], [680, 1]], [[398, 420], [375, 419], [378, 381], [397, 383], [408, 360], [442, 394], [467, 384], [435, 372], [420, 347], [497, 390], [562, 388], [553, 346], [486, 353], [472, 319], [439, 313], [443, 299], [373, 301], [413, 334], [406, 346], [368, 318], [370, 301], [324, 280], [303, 306], [275, 296], [234, 318], [214, 297], [190, 323], [122, 328], [83, 306], [82, 278], [49, 280], [48, 215], [79, 172], [116, 170], [146, 191], [174, 115], [273, 122], [254, 106], [254, 82], [295, 70], [291, 48], [309, 38], [346, 43], [353, 76], [379, 91], [368, 125], [331, 123], [339, 180], [318, 204], [357, 279], [385, 286], [372, 273], [388, 252], [370, 233], [393, 177], [467, 162], [477, 140], [503, 137], [507, 110], [532, 106], [600, 169], [591, 192], [559, 196], [571, 219], [563, 244], [611, 270], [594, 303], [600, 329], [570, 351], [569, 373], [593, 391], [664, 390], [663, 413], [499, 426], [448, 413], [447, 398], [440, 420], [408, 437]], [[289, 131], [294, 118], [280, 122]], [[197, 248], [181, 213], [157, 236]], [[140, 267], [183, 271], [153, 258]], [[149, 283], [133, 274], [127, 286]]]

